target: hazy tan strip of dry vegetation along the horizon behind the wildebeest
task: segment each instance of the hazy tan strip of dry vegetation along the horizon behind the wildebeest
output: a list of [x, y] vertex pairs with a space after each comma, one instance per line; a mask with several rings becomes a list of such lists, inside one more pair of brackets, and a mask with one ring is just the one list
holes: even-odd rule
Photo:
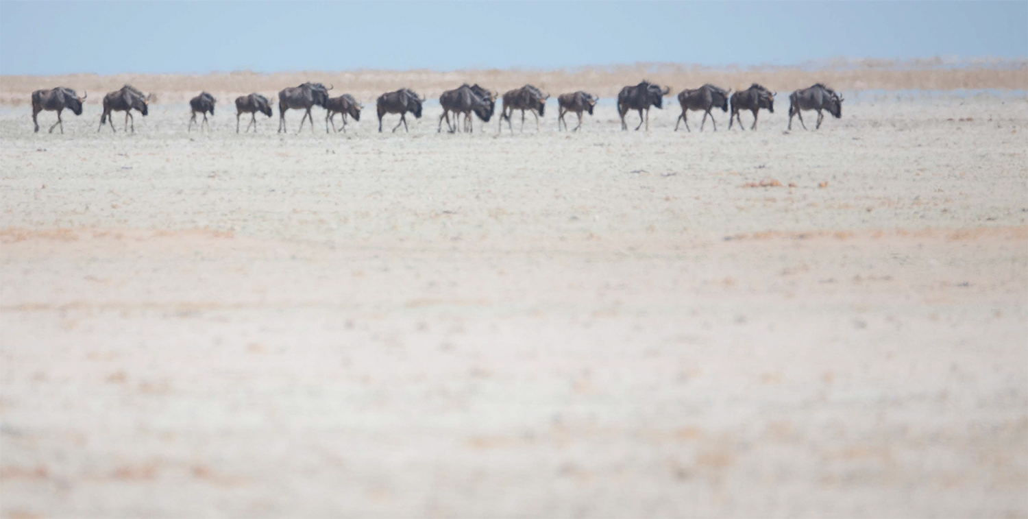
[[946, 62], [942, 59], [892, 62], [882, 60], [836, 60], [792, 67], [710, 68], [684, 64], [636, 64], [609, 67], [581, 67], [562, 70], [431, 70], [350, 72], [227, 72], [205, 75], [185, 74], [72, 74], [65, 76], [0, 76], [0, 104], [29, 102], [32, 90], [65, 85], [90, 96], [101, 96], [132, 83], [147, 92], [155, 92], [158, 102], [177, 103], [200, 90], [223, 98], [257, 91], [272, 96], [285, 86], [304, 81], [335, 85], [335, 92], [350, 92], [368, 102], [383, 91], [408, 86], [423, 96], [437, 98], [443, 90], [462, 82], [478, 82], [505, 91], [533, 83], [551, 95], [584, 89], [603, 98], [617, 96], [626, 84], [647, 78], [670, 85], [675, 91], [711, 82], [732, 88], [744, 88], [752, 82], [781, 91], [823, 82], [841, 90], [858, 89], [934, 89], [955, 88], [1028, 88], [1028, 61], [976, 60]]

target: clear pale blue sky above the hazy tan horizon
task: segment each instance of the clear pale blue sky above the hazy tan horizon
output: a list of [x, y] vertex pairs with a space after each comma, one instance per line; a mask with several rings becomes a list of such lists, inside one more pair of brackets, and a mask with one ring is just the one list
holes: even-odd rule
[[0, 74], [1026, 58], [1028, 1], [0, 1]]

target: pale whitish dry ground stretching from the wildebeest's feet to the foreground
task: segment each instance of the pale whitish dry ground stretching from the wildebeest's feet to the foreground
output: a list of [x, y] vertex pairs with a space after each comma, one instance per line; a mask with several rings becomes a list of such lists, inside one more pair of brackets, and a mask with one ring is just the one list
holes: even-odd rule
[[0, 513], [1028, 515], [1028, 103], [784, 110], [8, 111]]

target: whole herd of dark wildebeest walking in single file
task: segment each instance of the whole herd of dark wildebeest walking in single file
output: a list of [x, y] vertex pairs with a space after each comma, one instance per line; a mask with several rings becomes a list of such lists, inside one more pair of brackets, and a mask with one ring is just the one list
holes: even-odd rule
[[[329, 97], [329, 90], [331, 89], [331, 85], [326, 87], [322, 83], [307, 82], [280, 91], [279, 132], [286, 132], [286, 111], [295, 109], [304, 110], [303, 117], [300, 119], [299, 129], [303, 129], [303, 122], [309, 118], [310, 132], [314, 133], [315, 122], [314, 116], [310, 114], [310, 109], [315, 106], [320, 106], [327, 111], [325, 116], [325, 132], [329, 132], [329, 123], [331, 123], [332, 129], [338, 132], [338, 128], [335, 126], [335, 114], [340, 114], [342, 116], [342, 131], [345, 133], [346, 117], [350, 116], [354, 120], [360, 120], [361, 109], [364, 108], [364, 105], [348, 94], [331, 98]], [[618, 94], [618, 113], [621, 116], [621, 129], [628, 129], [628, 125], [625, 123], [625, 114], [630, 110], [636, 110], [639, 114], [639, 123], [635, 126], [635, 129], [642, 126], [645, 122], [647, 131], [649, 131], [650, 107], [663, 108], [664, 96], [667, 96], [670, 91], [671, 88], [669, 86], [661, 87], [649, 81], [642, 81], [639, 84], [622, 88]], [[728, 112], [729, 104], [731, 104], [732, 108], [732, 114], [728, 120], [729, 129], [732, 128], [733, 120], [738, 120], [739, 126], [742, 126], [742, 118], [739, 116], [739, 112], [741, 111], [748, 110], [754, 114], [754, 123], [750, 129], [757, 129], [757, 115], [760, 109], [764, 108], [774, 113], [774, 98], [776, 92], [768, 90], [760, 84], [754, 83], [749, 88], [736, 91], [735, 94], [731, 94], [731, 96], [730, 94], [731, 89], [726, 90], [709, 83], [699, 88], [682, 90], [678, 94], [678, 104], [682, 106], [682, 114], [675, 120], [675, 132], [678, 129], [680, 122], [685, 122], [686, 129], [692, 132], [689, 128], [689, 121], [687, 120], [687, 114], [690, 111], [703, 112], [700, 132], [703, 131], [707, 116], [710, 116], [710, 121], [714, 125], [714, 132], [717, 132], [718, 123], [714, 122], [713, 114], [710, 112], [718, 108], [721, 108], [724, 112]], [[152, 95], [144, 95], [138, 88], [128, 84], [104, 96], [104, 113], [100, 116], [100, 126], [97, 128], [97, 132], [103, 129], [104, 124], [108, 121], [110, 121], [111, 131], [116, 132], [111, 112], [125, 112], [125, 131], [128, 131], [131, 121], [132, 132], [135, 133], [136, 121], [132, 116], [132, 111], [137, 110], [145, 116], [147, 114], [147, 104], [151, 98]], [[500, 131], [503, 131], [503, 121], [506, 119], [508, 128], [512, 133], [514, 132], [511, 125], [511, 115], [514, 114], [515, 110], [521, 111], [521, 131], [524, 131], [525, 111], [530, 112], [536, 117], [536, 129], [539, 131], [539, 117], [544, 114], [546, 101], [549, 98], [549, 94], [545, 94], [530, 84], [504, 94], [500, 98], [503, 103], [500, 112]], [[54, 126], [60, 125], [61, 133], [64, 134], [61, 112], [67, 108], [74, 112], [75, 115], [81, 115], [82, 103], [85, 99], [85, 95], [80, 98], [75, 90], [64, 86], [32, 92], [32, 122], [35, 124], [35, 131], [39, 132], [39, 123], [36, 120], [36, 116], [41, 111], [50, 110], [58, 112], [58, 121], [50, 126], [50, 133], [53, 132]], [[582, 113], [589, 112], [592, 115], [593, 108], [596, 106], [598, 99], [596, 96], [581, 90], [558, 96], [557, 106], [559, 114], [557, 116], [557, 129], [561, 129], [561, 123], [563, 124], [563, 129], [567, 129], [567, 121], [564, 120], [564, 115], [568, 112], [576, 113], [579, 119], [578, 125], [573, 131], [582, 127]], [[382, 131], [382, 117], [387, 114], [400, 115], [400, 121], [393, 127], [393, 132], [396, 132], [400, 127], [400, 124], [403, 124], [404, 131], [407, 132], [406, 114], [409, 112], [415, 118], [420, 118], [421, 104], [424, 102], [425, 98], [418, 97], [417, 94], [409, 88], [401, 88], [396, 91], [382, 94], [375, 103], [378, 113], [378, 132]], [[801, 110], [815, 110], [817, 112], [816, 128], [820, 128], [821, 121], [824, 118], [822, 110], [828, 110], [836, 118], [840, 118], [842, 117], [842, 96], [821, 83], [794, 91], [788, 96], [788, 129], [793, 129], [794, 115], [800, 118], [803, 128], [807, 128], [806, 123], [803, 122], [803, 115], [800, 113]], [[208, 131], [210, 132], [207, 114], [210, 112], [211, 115], [214, 115], [214, 105], [216, 103], [217, 100], [214, 96], [206, 91], [191, 99], [189, 101], [189, 108], [192, 116], [189, 118], [188, 131], [192, 131], [192, 125], [196, 122], [196, 115], [200, 114], [204, 117], [203, 121], [199, 122], [200, 131], [203, 131], [204, 124], [208, 124]], [[450, 133], [460, 131], [458, 122], [462, 115], [464, 116], [464, 129], [466, 132], [473, 132], [474, 121], [472, 114], [478, 116], [483, 122], [488, 122], [495, 111], [497, 95], [478, 84], [468, 85], [465, 83], [457, 88], [444, 91], [439, 97], [439, 104], [442, 106], [443, 113], [439, 116], [437, 132], [442, 132], [444, 119]], [[271, 103], [267, 98], [260, 94], [251, 94], [236, 98], [235, 133], [240, 132], [240, 117], [243, 114], [250, 114], [247, 132], [250, 132], [251, 125], [253, 125], [254, 132], [256, 132], [258, 112], [268, 117], [271, 116]], [[450, 113], [453, 114], [452, 123], [450, 122]]]

